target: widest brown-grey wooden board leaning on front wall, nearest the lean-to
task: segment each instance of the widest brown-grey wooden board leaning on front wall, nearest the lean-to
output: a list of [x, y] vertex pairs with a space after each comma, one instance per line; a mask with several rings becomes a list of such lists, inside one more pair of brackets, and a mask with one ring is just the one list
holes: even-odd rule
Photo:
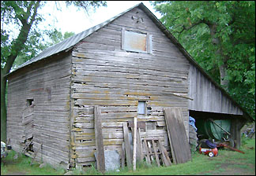
[[176, 163], [186, 163], [191, 159], [190, 145], [186, 137], [181, 108], [164, 108], [164, 117], [171, 142], [172, 156]]

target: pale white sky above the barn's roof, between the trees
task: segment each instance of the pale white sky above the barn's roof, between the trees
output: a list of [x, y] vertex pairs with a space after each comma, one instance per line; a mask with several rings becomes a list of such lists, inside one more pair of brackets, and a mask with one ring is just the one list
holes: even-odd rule
[[[136, 6], [140, 2], [143, 2], [157, 18], [160, 18], [160, 13], [155, 12], [149, 1], [107, 1], [107, 7], [101, 6], [95, 12], [90, 10], [89, 16], [83, 9], [77, 11], [74, 6], [66, 8], [65, 2], [49, 1], [46, 6], [39, 10], [39, 13], [43, 13], [47, 21], [51, 20], [55, 27], [62, 31], [62, 35], [66, 31], [73, 31], [77, 34]], [[62, 11], [56, 9], [56, 4], [61, 7]]]

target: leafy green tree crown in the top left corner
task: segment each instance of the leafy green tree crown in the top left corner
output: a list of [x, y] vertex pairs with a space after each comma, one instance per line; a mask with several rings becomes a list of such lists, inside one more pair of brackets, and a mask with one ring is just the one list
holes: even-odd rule
[[[19, 54], [28, 55], [28, 58], [31, 58], [30, 55], [35, 56], [34, 50], [38, 48], [40, 36], [40, 31], [36, 31], [36, 25], [43, 20], [43, 17], [36, 14], [36, 11], [44, 5], [45, 2], [40, 2], [40, 7], [37, 7], [38, 2], [1, 2], [1, 68], [5, 67], [6, 62], [13, 61], [9, 57]], [[27, 35], [29, 31], [30, 35]], [[28, 42], [26, 42], [27, 38]], [[30, 48], [30, 53], [28, 53], [28, 48]]]

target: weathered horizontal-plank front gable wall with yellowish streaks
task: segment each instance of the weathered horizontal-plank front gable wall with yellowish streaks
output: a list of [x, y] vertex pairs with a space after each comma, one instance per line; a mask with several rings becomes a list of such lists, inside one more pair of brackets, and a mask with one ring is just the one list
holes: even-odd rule
[[[141, 16], [143, 23], [131, 16]], [[152, 54], [122, 50], [122, 27], [152, 35]], [[160, 137], [170, 151], [164, 107], [183, 109], [188, 134], [188, 99], [171, 94], [187, 97], [189, 63], [141, 9], [92, 33], [77, 44], [72, 56], [72, 158], [77, 166], [96, 161], [94, 105], [100, 106], [105, 149], [121, 152], [122, 123], [137, 116], [138, 101], [151, 108], [149, 116], [137, 116], [147, 123], [142, 138]]]

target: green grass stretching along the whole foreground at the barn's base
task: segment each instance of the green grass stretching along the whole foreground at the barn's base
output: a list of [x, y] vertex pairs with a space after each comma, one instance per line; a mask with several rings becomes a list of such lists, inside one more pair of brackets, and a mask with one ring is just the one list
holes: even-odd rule
[[[219, 156], [210, 158], [198, 152], [192, 154], [192, 160], [187, 163], [171, 165], [171, 167], [156, 167], [156, 163], [149, 165], [142, 161], [137, 163], [137, 170], [129, 170], [127, 167], [120, 169], [119, 172], [108, 171], [105, 174], [111, 175], [130, 175], [130, 174], [255, 174], [255, 139], [244, 139], [243, 146], [240, 148], [245, 154], [234, 152], [228, 148], [220, 149]], [[12, 174], [21, 172], [27, 175], [62, 175], [65, 170], [55, 170], [49, 165], [40, 168], [39, 163], [30, 166], [31, 158], [20, 155], [13, 159], [16, 152], [9, 152], [6, 157], [6, 164], [1, 164], [1, 174]], [[25, 168], [25, 169], [24, 169]], [[86, 170], [73, 170], [73, 174], [98, 175], [101, 174], [95, 167], [88, 167]]]

